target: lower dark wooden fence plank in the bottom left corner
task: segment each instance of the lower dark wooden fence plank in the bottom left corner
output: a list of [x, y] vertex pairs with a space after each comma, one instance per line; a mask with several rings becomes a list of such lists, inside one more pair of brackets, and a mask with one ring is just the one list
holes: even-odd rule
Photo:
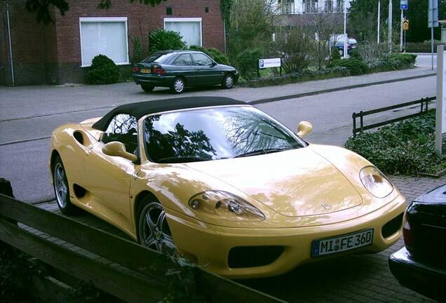
[[123, 273], [1, 219], [0, 239], [42, 262], [69, 271], [69, 274], [76, 278], [90, 281], [96, 288], [126, 302], [158, 302], [168, 291], [163, 283], [147, 276], [141, 276], [135, 271], [133, 274], [130, 274], [130, 271]]

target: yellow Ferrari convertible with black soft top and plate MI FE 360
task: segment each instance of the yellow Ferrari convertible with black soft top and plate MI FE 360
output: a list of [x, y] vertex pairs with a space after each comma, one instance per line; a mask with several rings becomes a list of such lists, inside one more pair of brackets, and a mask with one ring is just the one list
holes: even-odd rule
[[311, 128], [223, 97], [122, 105], [53, 131], [56, 200], [231, 278], [388, 248], [405, 198], [358, 154], [304, 141]]

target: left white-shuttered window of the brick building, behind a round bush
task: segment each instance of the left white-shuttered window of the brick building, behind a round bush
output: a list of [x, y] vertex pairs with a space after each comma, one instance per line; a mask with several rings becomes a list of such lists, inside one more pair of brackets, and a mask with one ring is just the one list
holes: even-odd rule
[[128, 65], [127, 17], [79, 18], [82, 67], [96, 55], [106, 55], [116, 65]]

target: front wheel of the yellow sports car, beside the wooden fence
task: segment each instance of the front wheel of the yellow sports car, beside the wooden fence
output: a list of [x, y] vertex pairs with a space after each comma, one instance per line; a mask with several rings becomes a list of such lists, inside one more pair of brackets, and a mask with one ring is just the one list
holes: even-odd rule
[[160, 253], [175, 255], [175, 244], [161, 203], [147, 196], [141, 203], [137, 238], [141, 245]]

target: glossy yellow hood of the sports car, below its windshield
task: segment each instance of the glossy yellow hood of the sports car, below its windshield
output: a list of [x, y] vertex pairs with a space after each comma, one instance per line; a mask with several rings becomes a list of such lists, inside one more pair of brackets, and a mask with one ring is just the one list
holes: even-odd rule
[[186, 165], [288, 217], [323, 215], [363, 202], [349, 180], [309, 148]]

